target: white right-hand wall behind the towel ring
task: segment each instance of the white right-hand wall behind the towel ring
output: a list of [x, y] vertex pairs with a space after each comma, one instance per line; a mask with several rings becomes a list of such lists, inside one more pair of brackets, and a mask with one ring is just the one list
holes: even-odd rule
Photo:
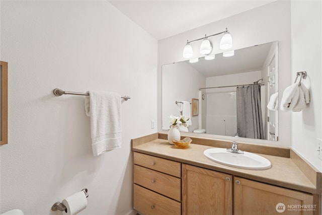
[[321, 1], [292, 1], [292, 82], [297, 71], [307, 71], [303, 81], [309, 88], [310, 104], [292, 113], [292, 147], [322, 171], [317, 158], [317, 138], [322, 138], [322, 4]]

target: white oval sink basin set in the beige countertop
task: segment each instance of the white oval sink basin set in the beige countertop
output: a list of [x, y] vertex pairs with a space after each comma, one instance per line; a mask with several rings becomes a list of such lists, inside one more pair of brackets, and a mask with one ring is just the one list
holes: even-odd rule
[[266, 158], [249, 152], [237, 154], [222, 148], [212, 148], [205, 150], [203, 154], [208, 159], [229, 167], [248, 170], [267, 170], [272, 167], [271, 162]]

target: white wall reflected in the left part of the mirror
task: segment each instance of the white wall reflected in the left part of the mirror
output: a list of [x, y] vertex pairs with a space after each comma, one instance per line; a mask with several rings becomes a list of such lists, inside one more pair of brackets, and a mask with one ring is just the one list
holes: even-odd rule
[[[162, 80], [162, 129], [170, 129], [169, 116], [180, 116], [180, 108], [182, 104], [176, 104], [176, 101], [192, 102], [192, 98], [198, 99], [198, 89], [200, 86], [206, 85], [206, 77], [194, 69], [189, 62], [178, 62], [163, 65]], [[187, 87], [186, 83], [189, 84]], [[200, 102], [200, 101], [199, 101]], [[200, 107], [199, 107], [200, 108]], [[198, 128], [198, 120], [200, 115], [191, 116], [192, 125], [188, 130], [192, 132]]]

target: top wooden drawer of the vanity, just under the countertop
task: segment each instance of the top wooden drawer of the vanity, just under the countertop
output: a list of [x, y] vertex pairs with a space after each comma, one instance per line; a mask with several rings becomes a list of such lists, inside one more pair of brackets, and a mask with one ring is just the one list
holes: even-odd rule
[[134, 152], [134, 164], [181, 178], [181, 163]]

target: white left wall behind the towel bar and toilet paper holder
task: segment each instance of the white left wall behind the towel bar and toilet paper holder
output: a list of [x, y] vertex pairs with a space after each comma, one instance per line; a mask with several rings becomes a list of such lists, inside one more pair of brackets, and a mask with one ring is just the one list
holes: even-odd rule
[[[9, 62], [9, 144], [1, 146], [1, 212], [51, 211], [88, 188], [79, 214], [132, 212], [130, 139], [154, 133], [157, 41], [106, 1], [1, 1], [1, 60]], [[94, 157], [84, 97], [122, 103], [122, 148]]]

